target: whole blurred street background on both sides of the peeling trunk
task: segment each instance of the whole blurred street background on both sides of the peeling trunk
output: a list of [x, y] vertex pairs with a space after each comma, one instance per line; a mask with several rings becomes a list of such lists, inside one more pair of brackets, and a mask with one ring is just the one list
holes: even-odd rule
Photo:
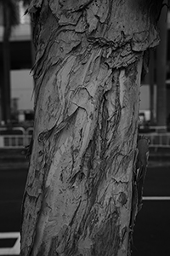
[[[30, 1], [0, 0], [0, 255], [20, 253], [20, 207], [26, 184], [26, 146], [33, 130]], [[170, 12], [161, 11], [161, 43], [150, 50], [142, 77], [139, 133], [150, 139], [144, 206], [133, 256], [170, 255]]]

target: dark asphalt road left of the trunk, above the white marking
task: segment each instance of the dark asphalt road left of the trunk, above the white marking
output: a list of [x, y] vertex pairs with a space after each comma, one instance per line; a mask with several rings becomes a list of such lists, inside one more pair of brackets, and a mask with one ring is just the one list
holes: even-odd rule
[[0, 171], [0, 232], [20, 230], [20, 207], [27, 169]]

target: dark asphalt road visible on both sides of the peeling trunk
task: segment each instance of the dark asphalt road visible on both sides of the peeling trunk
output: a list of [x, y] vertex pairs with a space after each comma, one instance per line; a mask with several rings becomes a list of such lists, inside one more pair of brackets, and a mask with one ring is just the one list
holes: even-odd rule
[[[20, 207], [26, 175], [26, 165], [19, 168], [1, 166], [0, 233], [20, 231]], [[165, 196], [170, 197], [170, 165], [151, 165], [145, 179], [143, 207], [133, 232], [132, 256], [170, 255], [170, 200]], [[14, 241], [0, 239], [0, 248], [11, 247]]]

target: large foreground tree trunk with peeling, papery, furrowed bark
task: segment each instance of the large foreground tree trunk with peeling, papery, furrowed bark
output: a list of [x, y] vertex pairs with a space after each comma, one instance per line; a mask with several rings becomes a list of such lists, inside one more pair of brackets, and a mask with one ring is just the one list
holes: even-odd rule
[[130, 254], [140, 77], [161, 4], [31, 2], [35, 125], [21, 256]]

